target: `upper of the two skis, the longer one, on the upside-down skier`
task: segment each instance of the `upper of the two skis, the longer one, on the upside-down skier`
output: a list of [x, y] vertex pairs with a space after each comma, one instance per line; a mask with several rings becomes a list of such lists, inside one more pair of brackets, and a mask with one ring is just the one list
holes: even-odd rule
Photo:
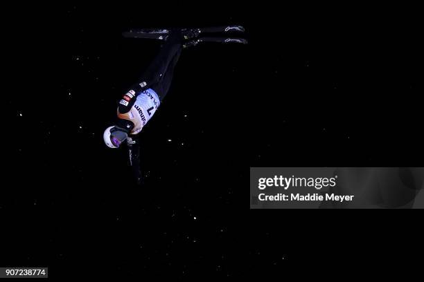
[[[242, 26], [215, 26], [209, 28], [182, 28], [183, 35], [186, 39], [199, 37], [202, 33], [229, 33], [229, 32], [245, 32]], [[123, 32], [125, 38], [143, 38], [143, 39], [159, 39], [166, 40], [169, 30], [164, 28], [142, 28]]]

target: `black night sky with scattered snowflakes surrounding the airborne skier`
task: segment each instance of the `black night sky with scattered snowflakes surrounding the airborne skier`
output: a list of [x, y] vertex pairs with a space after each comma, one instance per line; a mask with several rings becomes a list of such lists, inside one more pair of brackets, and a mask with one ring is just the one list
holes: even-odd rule
[[[3, 12], [1, 265], [48, 266], [53, 279], [184, 279], [417, 263], [412, 211], [249, 211], [243, 188], [249, 167], [423, 165], [414, 7]], [[102, 135], [159, 42], [121, 32], [223, 24], [245, 26], [249, 45], [184, 50], [140, 135], [146, 178], [136, 187], [125, 151]]]

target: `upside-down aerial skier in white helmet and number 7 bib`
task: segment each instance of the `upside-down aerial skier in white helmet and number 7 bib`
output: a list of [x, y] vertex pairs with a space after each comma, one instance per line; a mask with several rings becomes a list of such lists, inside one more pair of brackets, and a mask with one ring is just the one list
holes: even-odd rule
[[242, 38], [203, 37], [203, 33], [243, 32], [242, 26], [220, 26], [214, 28], [175, 29], [175, 30], [130, 30], [124, 37], [164, 40], [157, 57], [118, 103], [118, 118], [114, 125], [103, 133], [103, 140], [109, 148], [119, 148], [127, 141], [130, 166], [141, 184], [143, 177], [140, 169], [140, 146], [136, 139], [143, 126], [152, 118], [169, 91], [175, 66], [183, 48], [195, 46], [200, 42], [234, 42], [246, 44]]

